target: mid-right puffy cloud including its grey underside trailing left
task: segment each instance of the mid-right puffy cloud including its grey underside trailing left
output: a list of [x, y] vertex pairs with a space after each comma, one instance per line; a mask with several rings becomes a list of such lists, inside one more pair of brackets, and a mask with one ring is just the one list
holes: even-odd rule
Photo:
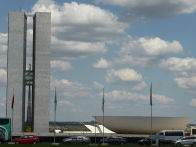
[[179, 54], [182, 52], [183, 47], [176, 40], [170, 42], [162, 40], [159, 37], [142, 37], [138, 39], [128, 37], [128, 40], [122, 44], [118, 52], [119, 57], [110, 63], [112, 63], [111, 66], [127, 65], [129, 67], [150, 67], [166, 55]]

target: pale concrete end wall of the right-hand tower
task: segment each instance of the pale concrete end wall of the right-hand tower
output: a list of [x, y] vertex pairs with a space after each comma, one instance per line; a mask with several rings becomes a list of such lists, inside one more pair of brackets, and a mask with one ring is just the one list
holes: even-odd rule
[[33, 126], [49, 132], [51, 15], [37, 12], [33, 32]]

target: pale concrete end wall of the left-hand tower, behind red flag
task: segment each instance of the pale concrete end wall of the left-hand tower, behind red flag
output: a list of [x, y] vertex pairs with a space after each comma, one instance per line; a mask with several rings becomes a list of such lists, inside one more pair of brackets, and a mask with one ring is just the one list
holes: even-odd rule
[[25, 108], [26, 16], [24, 12], [9, 12], [8, 21], [7, 117], [12, 118], [14, 89], [13, 132], [21, 132]]

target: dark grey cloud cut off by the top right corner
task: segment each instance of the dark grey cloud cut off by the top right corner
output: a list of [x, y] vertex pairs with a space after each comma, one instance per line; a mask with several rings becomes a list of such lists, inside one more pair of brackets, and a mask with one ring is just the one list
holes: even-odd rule
[[196, 10], [194, 0], [95, 0], [109, 5], [121, 6], [121, 19], [135, 21], [143, 19], [160, 19], [180, 14], [193, 13]]

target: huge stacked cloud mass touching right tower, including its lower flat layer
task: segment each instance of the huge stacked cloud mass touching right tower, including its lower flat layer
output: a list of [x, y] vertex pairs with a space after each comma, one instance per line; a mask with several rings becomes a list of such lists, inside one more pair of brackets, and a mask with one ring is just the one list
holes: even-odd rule
[[32, 12], [39, 11], [51, 12], [52, 55], [70, 59], [105, 53], [106, 42], [124, 34], [129, 26], [109, 11], [89, 4], [38, 0]]

